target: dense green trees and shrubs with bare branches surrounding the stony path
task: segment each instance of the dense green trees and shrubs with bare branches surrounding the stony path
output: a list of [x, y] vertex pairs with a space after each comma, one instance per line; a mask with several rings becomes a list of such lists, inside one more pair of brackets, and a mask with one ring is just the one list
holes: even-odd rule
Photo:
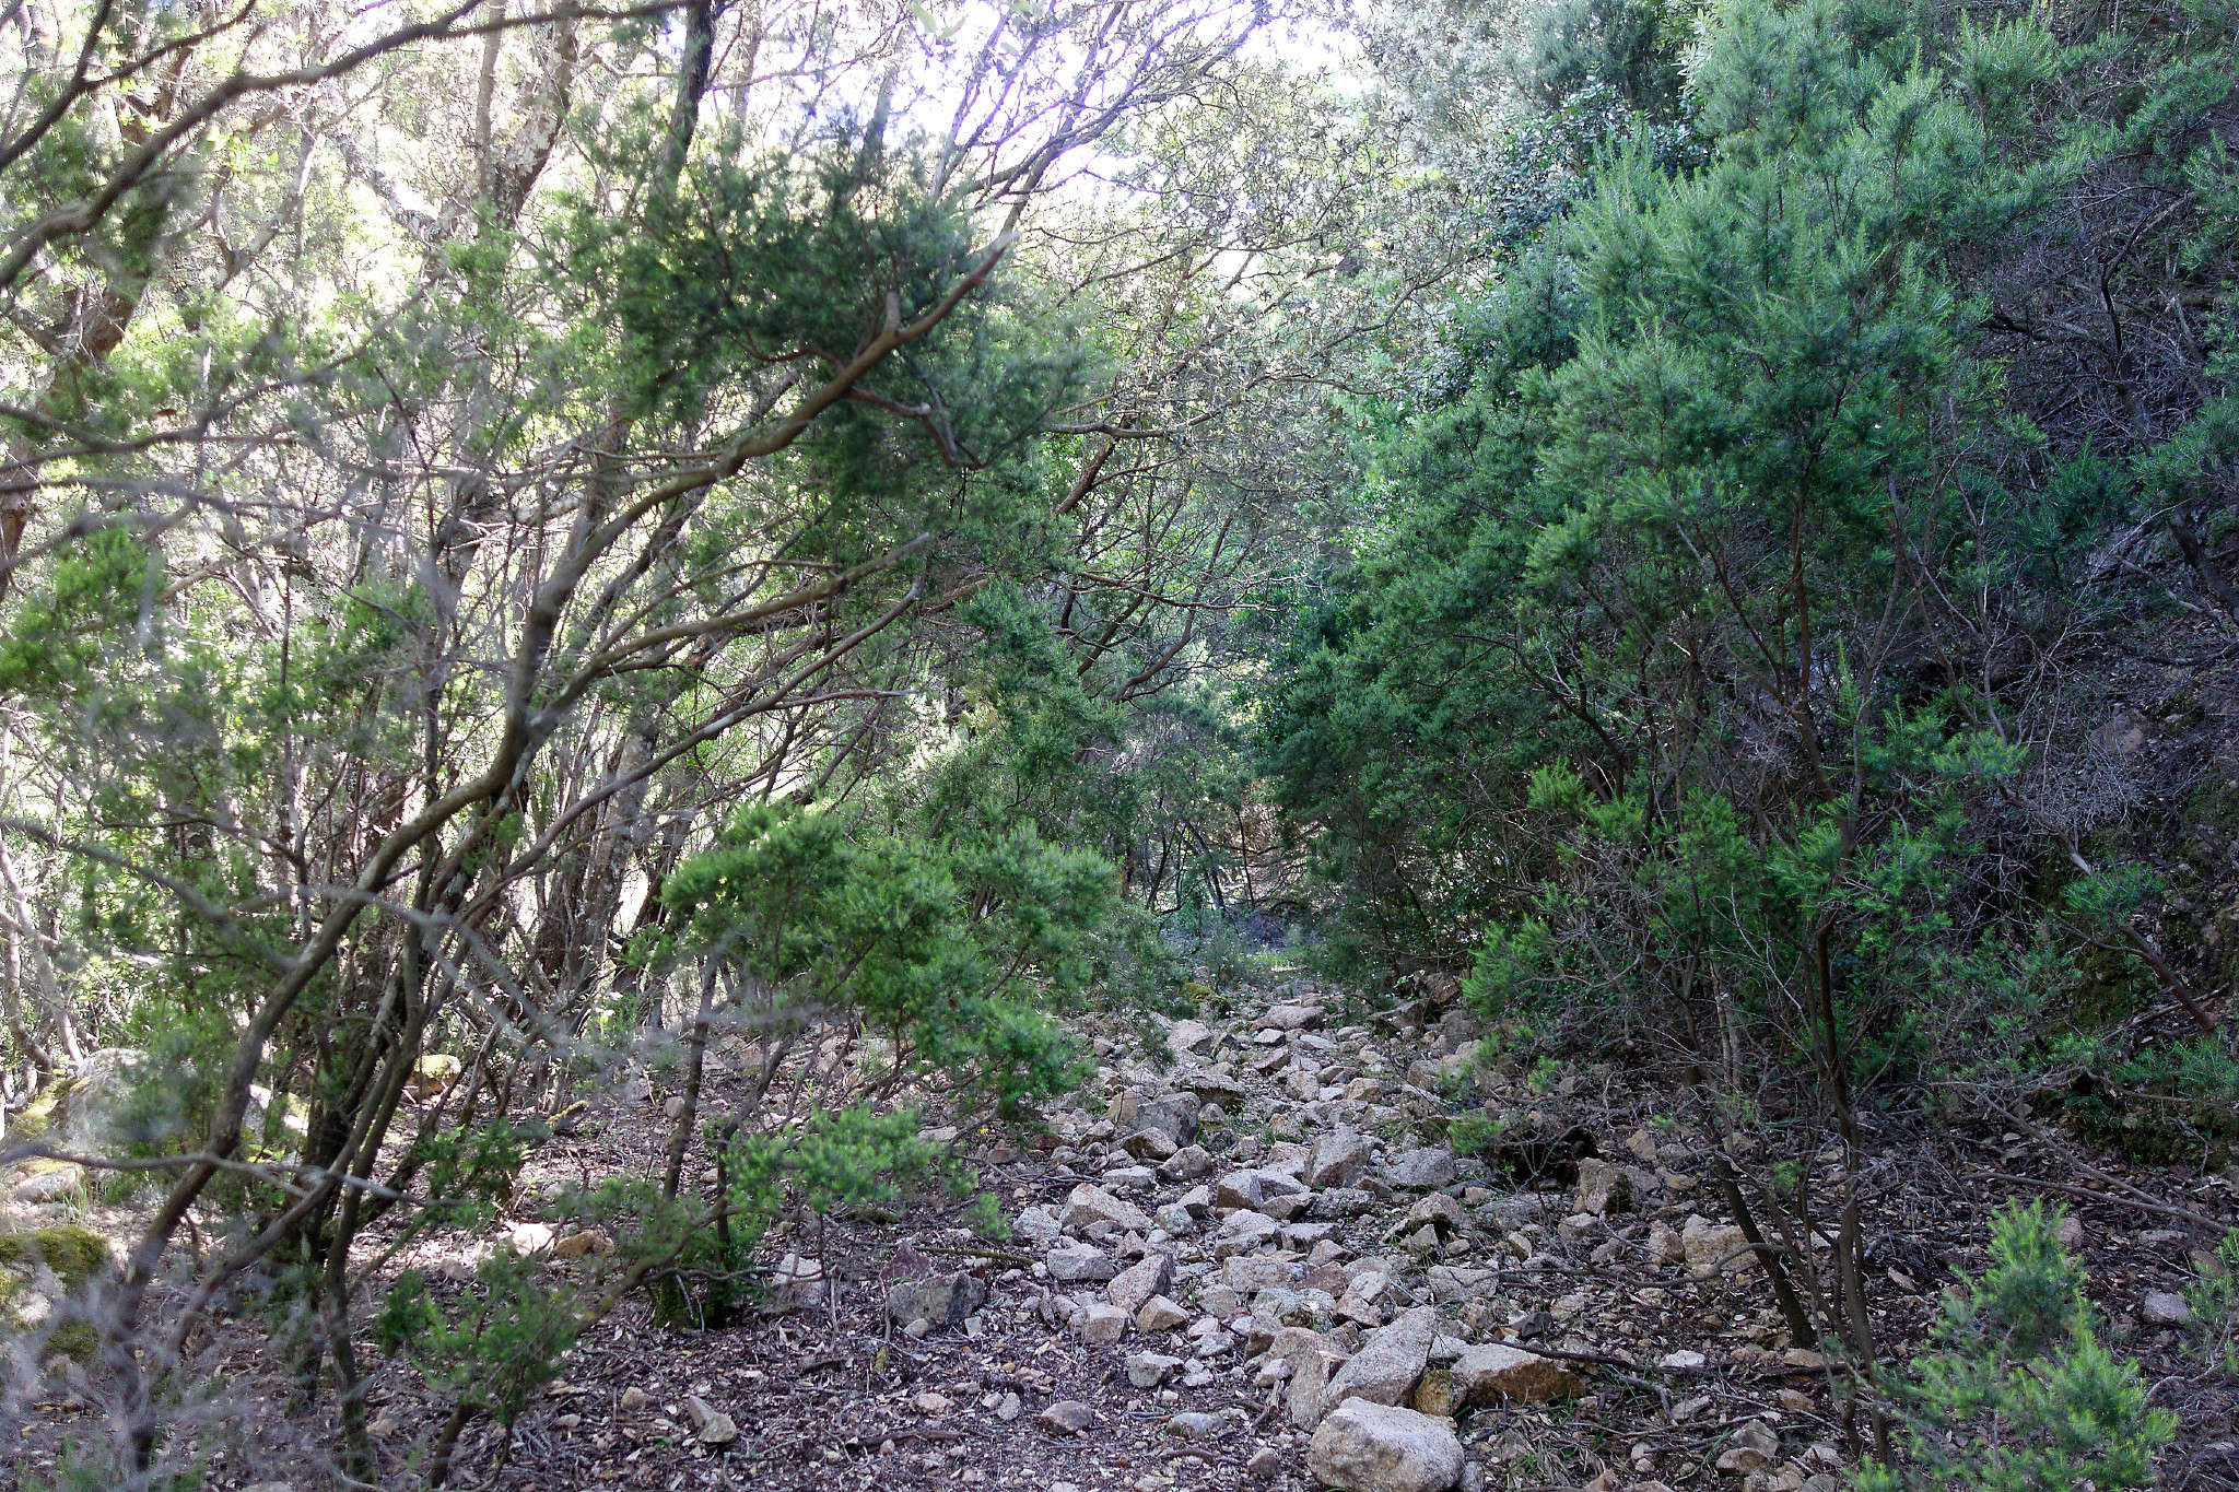
[[448, 1447], [636, 1291], [719, 1324], [1240, 910], [1666, 1083], [1867, 1364], [1876, 1114], [2239, 1139], [2228, 0], [0, 38], [0, 1098], [143, 1054], [112, 1154], [9, 1136], [148, 1188], [90, 1476], [184, 1474], [246, 1291], [363, 1476], [354, 1246], [625, 1074], [593, 1284], [376, 1338]]

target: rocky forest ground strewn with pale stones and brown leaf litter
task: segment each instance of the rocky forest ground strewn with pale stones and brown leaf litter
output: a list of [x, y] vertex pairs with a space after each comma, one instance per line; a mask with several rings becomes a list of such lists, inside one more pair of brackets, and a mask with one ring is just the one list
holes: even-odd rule
[[[674, 1333], [625, 1304], [504, 1447], [495, 1425], [468, 1429], [455, 1485], [1840, 1485], [1840, 1364], [1787, 1340], [1684, 1116], [1603, 1069], [1469, 1076], [1467, 1018], [1428, 1000], [1370, 1022], [1285, 982], [1142, 1036], [1095, 1036], [1099, 1078], [1046, 1134], [934, 1132], [1008, 1199], [1008, 1237], [947, 1199], [804, 1219], [772, 1239], [752, 1320]], [[661, 1103], [654, 1085], [611, 1094], [537, 1154], [524, 1194], [654, 1165]], [[1601, 1154], [1518, 1188], [1449, 1148], [1464, 1112], [1505, 1134], [1585, 1130]], [[2185, 1418], [2167, 1485], [2239, 1485], [2232, 1385], [2174, 1320], [2210, 1224], [2239, 1215], [2226, 1179], [2080, 1172], [2033, 1127], [1883, 1139], [1861, 1183], [1896, 1356], [1950, 1271], [1979, 1268], [1993, 1206], [2062, 1188], [2111, 1335]], [[596, 1239], [533, 1219], [392, 1264], [463, 1273], [490, 1246], [596, 1264], [569, 1257]], [[322, 1427], [280, 1414], [271, 1353], [224, 1351], [224, 1414], [257, 1432], [219, 1436], [213, 1485], [338, 1485]], [[94, 1411], [43, 1400], [20, 1470], [51, 1465]], [[392, 1364], [369, 1414], [405, 1481], [441, 1407]]]

